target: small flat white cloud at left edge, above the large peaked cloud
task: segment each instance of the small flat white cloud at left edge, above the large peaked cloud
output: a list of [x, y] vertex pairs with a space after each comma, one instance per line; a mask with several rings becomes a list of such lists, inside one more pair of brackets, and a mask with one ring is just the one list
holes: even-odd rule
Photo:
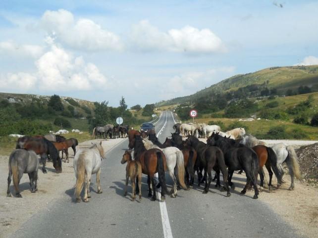
[[18, 45], [12, 42], [0, 42], [0, 53], [12, 56], [36, 58], [43, 53], [43, 48], [36, 45]]

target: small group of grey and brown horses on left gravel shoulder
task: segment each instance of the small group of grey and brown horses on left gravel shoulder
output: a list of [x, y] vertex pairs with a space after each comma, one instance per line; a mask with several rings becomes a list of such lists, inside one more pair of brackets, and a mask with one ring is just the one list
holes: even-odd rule
[[[17, 140], [16, 149], [12, 151], [9, 157], [9, 175], [7, 196], [11, 196], [10, 184], [11, 177], [13, 178], [13, 185], [15, 188], [16, 197], [22, 197], [19, 190], [19, 183], [24, 173], [29, 175], [31, 192], [37, 190], [38, 167], [40, 161], [43, 164], [42, 171], [44, 174], [46, 170], [46, 160], [53, 161], [53, 167], [56, 173], [62, 172], [63, 152], [65, 153], [64, 162], [69, 162], [68, 148], [71, 147], [76, 153], [76, 146], [78, 141], [75, 138], [66, 139], [65, 137], [48, 134], [45, 136], [24, 136]], [[62, 159], [59, 157], [59, 151], [62, 151]]]

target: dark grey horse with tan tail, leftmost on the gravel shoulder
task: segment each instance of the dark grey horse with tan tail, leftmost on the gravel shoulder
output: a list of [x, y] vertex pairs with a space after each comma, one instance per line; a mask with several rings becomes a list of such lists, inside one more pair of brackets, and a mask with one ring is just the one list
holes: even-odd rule
[[26, 173], [29, 175], [31, 192], [37, 191], [38, 168], [39, 159], [34, 151], [27, 151], [25, 149], [13, 150], [9, 157], [8, 189], [6, 196], [11, 196], [10, 184], [12, 176], [15, 196], [22, 197], [19, 190], [19, 183], [23, 174]]

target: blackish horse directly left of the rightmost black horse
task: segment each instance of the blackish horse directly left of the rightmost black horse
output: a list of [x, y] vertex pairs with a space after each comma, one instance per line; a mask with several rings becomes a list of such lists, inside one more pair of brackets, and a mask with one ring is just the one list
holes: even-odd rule
[[[196, 137], [189, 136], [189, 138], [186, 140], [186, 143], [190, 146], [192, 146], [197, 151], [197, 161], [198, 165], [202, 166], [204, 168], [204, 177], [208, 178], [206, 179], [205, 189], [203, 193], [208, 193], [209, 188], [212, 181], [212, 169], [219, 173], [221, 171], [223, 175], [223, 181], [224, 186], [223, 189], [227, 191], [226, 196], [230, 196], [230, 190], [228, 188], [228, 174], [226, 171], [225, 161], [223, 152], [216, 146], [209, 146], [206, 143], [200, 142]], [[219, 185], [216, 184], [216, 187]]]

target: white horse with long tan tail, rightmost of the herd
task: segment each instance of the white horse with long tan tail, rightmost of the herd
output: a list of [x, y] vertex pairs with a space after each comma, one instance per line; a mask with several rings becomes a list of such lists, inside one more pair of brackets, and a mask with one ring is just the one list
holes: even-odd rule
[[285, 145], [284, 143], [278, 143], [271, 146], [277, 155], [277, 167], [280, 170], [282, 176], [284, 174], [281, 164], [286, 162], [289, 170], [291, 184], [289, 190], [294, 190], [294, 175], [297, 179], [301, 180], [301, 172], [299, 170], [299, 164], [297, 161], [297, 154], [291, 145]]

